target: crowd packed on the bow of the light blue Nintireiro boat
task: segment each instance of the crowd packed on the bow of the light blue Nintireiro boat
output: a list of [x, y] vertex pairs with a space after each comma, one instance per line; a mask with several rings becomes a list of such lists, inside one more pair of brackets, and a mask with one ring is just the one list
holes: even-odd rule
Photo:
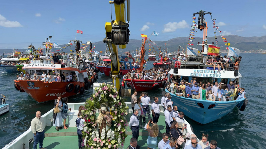
[[239, 86], [239, 81], [229, 81], [229, 84], [223, 82], [202, 82], [193, 78], [190, 82], [182, 79], [180, 76], [171, 76], [170, 82], [166, 81], [165, 89], [176, 96], [186, 98], [211, 100], [211, 101], [232, 101], [245, 98], [245, 89]]

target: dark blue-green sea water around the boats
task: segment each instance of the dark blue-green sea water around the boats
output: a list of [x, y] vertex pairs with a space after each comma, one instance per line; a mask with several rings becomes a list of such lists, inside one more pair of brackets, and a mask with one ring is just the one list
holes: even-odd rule
[[[244, 112], [235, 108], [230, 114], [205, 125], [199, 125], [186, 118], [192, 125], [194, 133], [201, 138], [201, 134], [209, 134], [210, 140], [217, 140], [220, 148], [265, 148], [266, 146], [266, 94], [265, 74], [266, 62], [263, 54], [241, 54], [242, 87], [246, 89], [249, 103]], [[151, 62], [146, 68], [151, 68]], [[30, 127], [36, 111], [43, 114], [53, 108], [53, 101], [37, 103], [27, 93], [20, 93], [13, 86], [15, 75], [6, 74], [0, 70], [0, 93], [7, 97], [10, 103], [9, 113], [0, 117], [0, 148], [10, 143]], [[101, 81], [110, 82], [111, 78], [99, 73]], [[162, 97], [163, 89], [148, 92], [151, 99]], [[69, 103], [85, 102], [92, 94], [92, 89], [83, 95], [69, 97]], [[140, 93], [138, 93], [140, 94]], [[138, 95], [139, 96], [139, 95]], [[129, 97], [125, 97], [130, 102]], [[160, 102], [160, 101], [159, 101]]]

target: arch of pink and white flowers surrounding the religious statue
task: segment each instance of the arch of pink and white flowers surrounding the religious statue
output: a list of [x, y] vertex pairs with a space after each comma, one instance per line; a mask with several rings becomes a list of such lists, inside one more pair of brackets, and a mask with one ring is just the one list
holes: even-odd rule
[[[107, 83], [100, 84], [95, 88], [95, 94], [87, 99], [82, 115], [85, 118], [83, 135], [83, 146], [90, 149], [118, 149], [124, 146], [124, 139], [127, 137], [126, 126], [128, 107], [124, 99], [119, 97], [116, 87]], [[96, 122], [96, 110], [100, 109], [102, 104], [107, 105], [113, 115], [113, 127], [103, 128], [101, 134], [93, 124]], [[106, 130], [107, 129], [107, 130]]]

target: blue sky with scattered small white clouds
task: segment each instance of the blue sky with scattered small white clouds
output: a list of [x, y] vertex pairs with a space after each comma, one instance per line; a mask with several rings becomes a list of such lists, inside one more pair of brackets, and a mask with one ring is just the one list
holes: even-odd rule
[[[169, 40], [175, 37], [188, 37], [192, 25], [192, 14], [204, 10], [212, 12], [222, 35], [243, 37], [266, 35], [265, 1], [217, 0], [131, 0], [129, 39], [141, 39], [140, 34], [158, 36], [151, 40]], [[1, 1], [0, 5], [0, 48], [27, 48], [31, 43], [39, 47], [48, 36], [53, 36], [59, 45], [74, 40], [86, 42], [102, 41], [105, 37], [105, 22], [111, 22], [109, 0], [79, 1]], [[112, 17], [115, 18], [112, 5]], [[196, 16], [196, 21], [197, 22]], [[208, 36], [213, 37], [210, 15]], [[197, 30], [195, 37], [202, 37]], [[130, 42], [130, 41], [129, 41]], [[230, 41], [229, 41], [230, 42]], [[97, 47], [97, 45], [96, 45]]]

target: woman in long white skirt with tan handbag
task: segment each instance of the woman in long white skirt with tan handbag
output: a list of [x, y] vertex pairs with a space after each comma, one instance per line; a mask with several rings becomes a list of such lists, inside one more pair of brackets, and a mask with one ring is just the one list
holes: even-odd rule
[[56, 127], [56, 130], [58, 131], [59, 128], [62, 129], [63, 121], [62, 121], [62, 115], [61, 115], [61, 107], [63, 107], [62, 104], [62, 96], [58, 95], [57, 99], [54, 101], [54, 110], [53, 110], [53, 126]]

